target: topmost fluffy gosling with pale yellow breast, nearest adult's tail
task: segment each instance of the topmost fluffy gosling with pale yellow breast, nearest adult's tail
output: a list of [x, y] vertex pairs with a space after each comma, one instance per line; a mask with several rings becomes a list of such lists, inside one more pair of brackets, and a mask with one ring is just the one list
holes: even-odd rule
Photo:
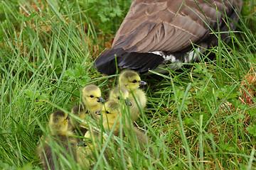
[[129, 90], [130, 116], [132, 121], [136, 121], [146, 106], [146, 94], [139, 89], [140, 85], [145, 85], [137, 72], [126, 69], [119, 75], [119, 86], [124, 86]]

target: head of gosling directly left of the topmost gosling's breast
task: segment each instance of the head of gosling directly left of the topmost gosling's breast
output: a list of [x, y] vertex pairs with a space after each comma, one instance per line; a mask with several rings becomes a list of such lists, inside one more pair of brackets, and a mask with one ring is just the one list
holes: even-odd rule
[[132, 103], [127, 101], [127, 98], [129, 98], [129, 91], [124, 86], [120, 86], [120, 87], [116, 86], [110, 91], [109, 101], [120, 103], [121, 100], [124, 100], [126, 105], [131, 106]]

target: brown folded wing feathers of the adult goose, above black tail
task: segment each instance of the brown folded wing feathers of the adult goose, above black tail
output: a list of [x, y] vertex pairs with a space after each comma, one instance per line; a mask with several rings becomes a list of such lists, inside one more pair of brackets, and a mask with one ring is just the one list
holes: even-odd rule
[[[129, 52], [188, 50], [216, 30], [218, 22], [229, 16], [234, 1], [135, 0], [117, 31], [112, 47]], [[216, 12], [218, 8], [218, 12]], [[225, 9], [225, 10], [224, 10]]]

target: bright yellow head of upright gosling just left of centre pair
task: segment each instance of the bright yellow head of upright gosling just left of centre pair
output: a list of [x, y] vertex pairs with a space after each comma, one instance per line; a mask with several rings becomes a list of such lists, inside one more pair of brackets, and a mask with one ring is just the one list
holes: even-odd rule
[[100, 88], [94, 84], [87, 85], [82, 88], [82, 101], [87, 106], [97, 106], [103, 103]]

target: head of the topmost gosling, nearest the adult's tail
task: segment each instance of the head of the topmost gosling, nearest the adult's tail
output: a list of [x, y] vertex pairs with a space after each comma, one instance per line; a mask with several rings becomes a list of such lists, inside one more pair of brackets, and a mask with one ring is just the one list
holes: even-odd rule
[[146, 82], [142, 81], [137, 72], [126, 69], [119, 75], [119, 85], [126, 86], [132, 91], [138, 89], [140, 85], [145, 85]]

